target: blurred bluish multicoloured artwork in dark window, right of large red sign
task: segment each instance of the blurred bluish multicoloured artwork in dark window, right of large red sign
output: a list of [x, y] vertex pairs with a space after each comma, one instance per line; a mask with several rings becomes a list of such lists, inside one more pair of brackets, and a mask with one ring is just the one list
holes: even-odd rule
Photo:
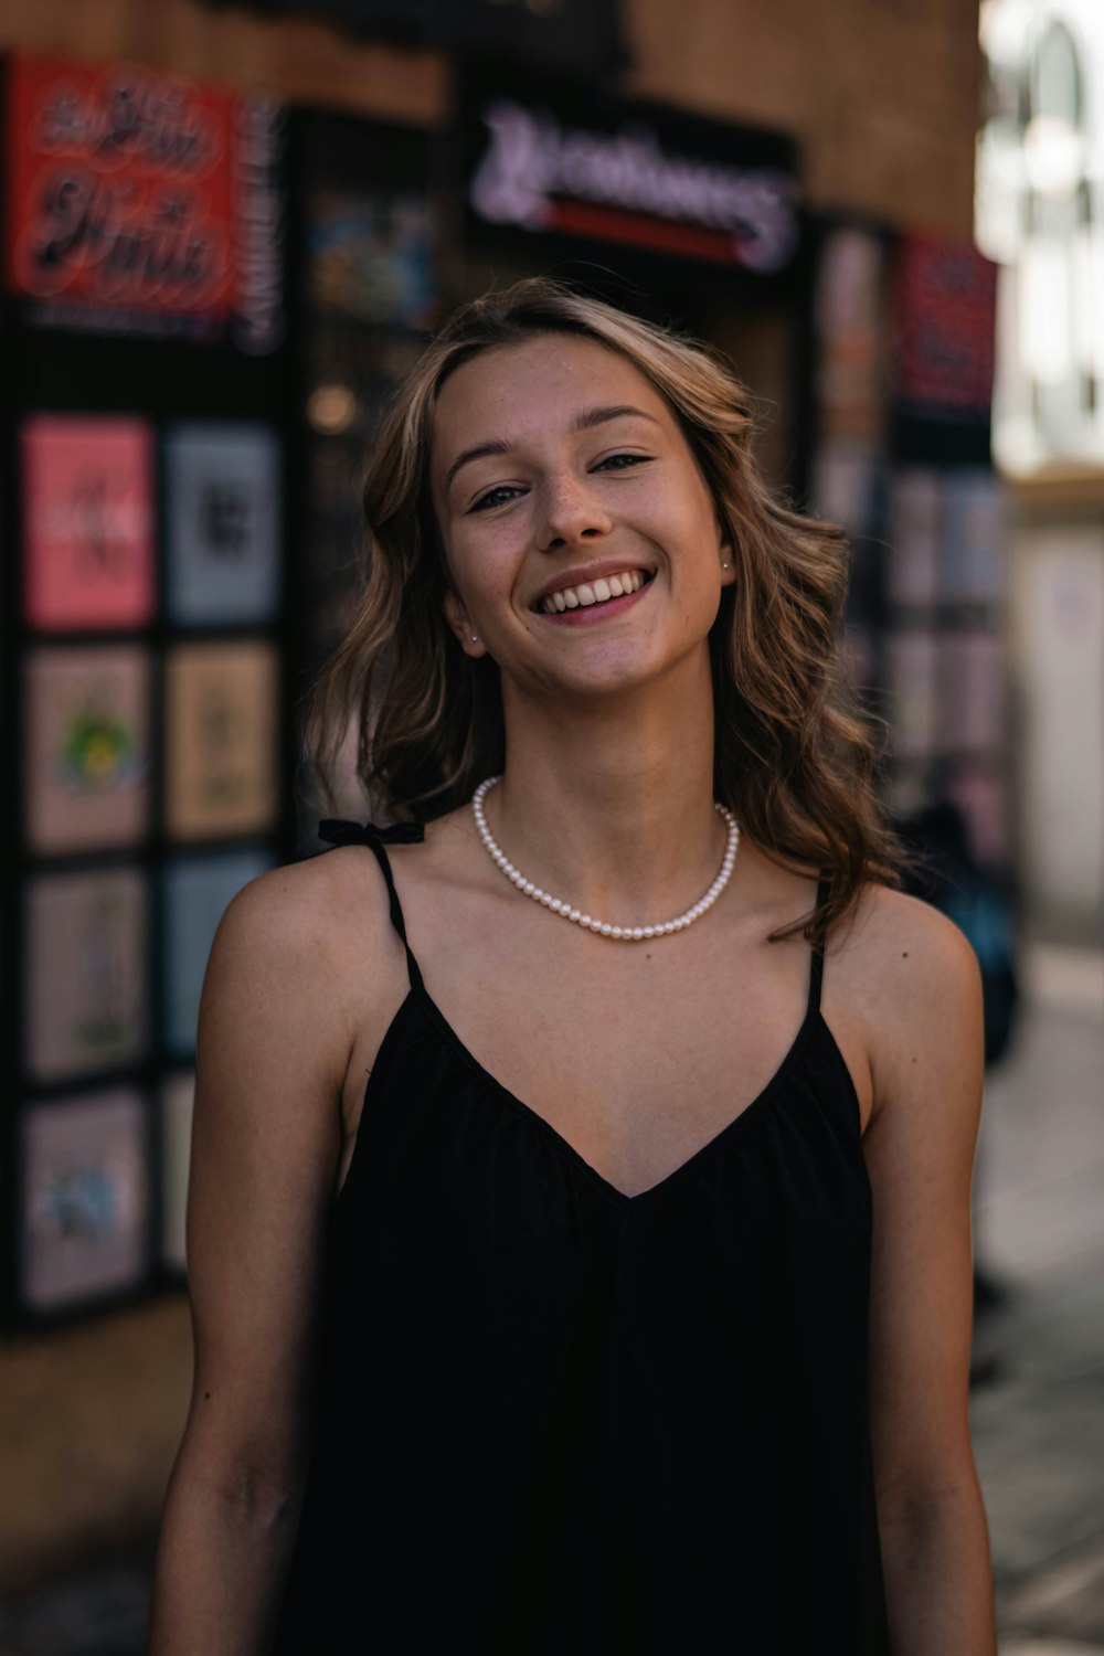
[[311, 305], [356, 321], [430, 326], [437, 290], [424, 194], [318, 190], [308, 214]]

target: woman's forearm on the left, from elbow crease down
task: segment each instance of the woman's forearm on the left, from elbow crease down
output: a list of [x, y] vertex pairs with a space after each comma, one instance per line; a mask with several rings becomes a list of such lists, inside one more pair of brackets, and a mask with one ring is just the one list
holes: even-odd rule
[[182, 1461], [161, 1524], [147, 1656], [266, 1653], [298, 1517], [298, 1499], [223, 1487]]

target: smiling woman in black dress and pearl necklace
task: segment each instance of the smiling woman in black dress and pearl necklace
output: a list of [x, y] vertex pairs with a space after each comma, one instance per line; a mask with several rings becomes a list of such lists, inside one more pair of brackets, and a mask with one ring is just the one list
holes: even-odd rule
[[540, 280], [382, 426], [310, 749], [391, 825], [212, 949], [151, 1656], [995, 1656], [977, 962], [751, 436]]

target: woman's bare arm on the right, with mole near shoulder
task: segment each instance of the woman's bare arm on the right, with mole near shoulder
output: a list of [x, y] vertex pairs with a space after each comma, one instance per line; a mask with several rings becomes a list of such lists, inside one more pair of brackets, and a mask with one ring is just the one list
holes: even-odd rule
[[894, 1656], [995, 1656], [968, 1421], [982, 980], [935, 909], [890, 891], [869, 909], [871, 1423], [890, 1643]]

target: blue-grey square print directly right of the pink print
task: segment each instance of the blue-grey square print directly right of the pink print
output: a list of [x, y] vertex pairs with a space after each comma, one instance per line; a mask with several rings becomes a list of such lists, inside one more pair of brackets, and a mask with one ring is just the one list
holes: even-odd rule
[[263, 426], [166, 436], [167, 604], [177, 623], [268, 621], [278, 603], [280, 440]]

